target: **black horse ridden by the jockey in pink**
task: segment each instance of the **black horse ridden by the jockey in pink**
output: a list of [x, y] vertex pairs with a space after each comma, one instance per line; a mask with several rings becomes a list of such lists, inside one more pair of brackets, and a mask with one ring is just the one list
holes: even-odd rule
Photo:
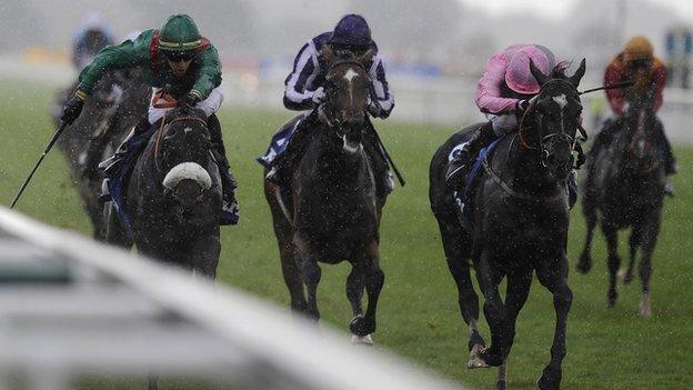
[[[565, 256], [569, 226], [569, 176], [572, 150], [582, 110], [578, 84], [584, 60], [572, 77], [556, 67], [544, 76], [530, 66], [541, 86], [520, 123], [520, 131], [501, 139], [471, 197], [473, 222], [460, 222], [453, 190], [444, 176], [453, 148], [483, 123], [454, 133], [431, 161], [430, 200], [443, 239], [448, 266], [459, 290], [459, 304], [470, 327], [469, 368], [501, 367], [496, 387], [505, 388], [506, 359], [515, 336], [515, 320], [524, 306], [532, 273], [553, 294], [556, 328], [551, 362], [539, 379], [541, 389], [558, 389], [565, 356], [565, 323], [572, 301]], [[484, 317], [491, 329], [491, 347], [479, 332], [479, 298], [470, 278], [469, 259], [484, 294]], [[499, 284], [508, 278], [505, 301]]]

